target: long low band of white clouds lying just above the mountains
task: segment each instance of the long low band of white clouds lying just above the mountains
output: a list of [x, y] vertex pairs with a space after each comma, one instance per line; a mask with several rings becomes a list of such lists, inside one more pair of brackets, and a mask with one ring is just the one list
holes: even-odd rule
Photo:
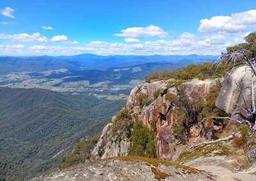
[[226, 42], [216, 43], [221, 37], [207, 36], [198, 38], [193, 34], [182, 34], [177, 40], [145, 41], [145, 43], [116, 43], [107, 41], [91, 41], [84, 47], [57, 47], [46, 45], [34, 45], [20, 48], [0, 48], [2, 55], [218, 55], [225, 51]]

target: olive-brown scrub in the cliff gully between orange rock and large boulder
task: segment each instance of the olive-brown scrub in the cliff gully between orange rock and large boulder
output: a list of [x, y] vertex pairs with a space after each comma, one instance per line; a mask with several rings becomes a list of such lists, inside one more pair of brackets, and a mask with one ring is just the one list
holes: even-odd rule
[[[184, 131], [187, 132], [187, 135], [189, 136], [189, 125], [200, 122], [202, 119], [204, 119], [204, 117], [211, 117], [216, 115], [227, 117], [227, 113], [223, 112], [215, 106], [216, 100], [220, 93], [220, 88], [221, 84], [220, 82], [217, 82], [216, 85], [212, 86], [210, 90], [211, 93], [207, 95], [204, 99], [189, 99], [186, 95], [184, 87], [182, 86], [176, 87], [178, 95], [174, 95], [171, 92], [168, 92], [165, 96], [165, 99], [168, 101], [172, 101], [173, 103], [175, 103], [175, 105], [179, 107], [177, 115], [175, 114], [177, 120], [179, 121], [177, 122], [177, 126], [174, 127], [175, 130], [178, 127], [180, 127], [179, 129], [181, 129], [181, 127], [184, 127]], [[228, 120], [225, 119], [207, 120], [208, 124], [221, 127], [225, 127], [227, 125], [227, 122]], [[180, 131], [177, 130], [177, 132]], [[216, 135], [216, 133], [214, 133], [214, 135]], [[183, 137], [177, 136], [177, 138], [180, 138], [180, 141], [184, 143], [186, 135], [184, 135]]]

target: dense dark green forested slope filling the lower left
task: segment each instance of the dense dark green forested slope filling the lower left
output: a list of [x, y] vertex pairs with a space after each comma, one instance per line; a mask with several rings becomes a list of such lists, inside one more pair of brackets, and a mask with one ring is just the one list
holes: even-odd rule
[[0, 87], [0, 180], [26, 180], [56, 168], [74, 143], [101, 131], [124, 102]]

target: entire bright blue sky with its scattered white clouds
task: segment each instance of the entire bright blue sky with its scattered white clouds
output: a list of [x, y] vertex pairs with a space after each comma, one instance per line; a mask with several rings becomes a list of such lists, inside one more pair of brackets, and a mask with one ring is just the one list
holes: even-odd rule
[[217, 55], [255, 29], [255, 0], [0, 0], [0, 55]]

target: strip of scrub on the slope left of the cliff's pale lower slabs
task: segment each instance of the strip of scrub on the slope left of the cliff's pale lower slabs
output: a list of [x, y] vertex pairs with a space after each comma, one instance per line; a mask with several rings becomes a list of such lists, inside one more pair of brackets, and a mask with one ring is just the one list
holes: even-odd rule
[[79, 163], [84, 163], [86, 159], [90, 159], [91, 152], [94, 146], [97, 144], [100, 138], [100, 134], [98, 133], [90, 139], [83, 139], [79, 143], [77, 143], [74, 147], [74, 150], [67, 154], [67, 156], [63, 157], [59, 168], [67, 168], [68, 166], [72, 166]]

